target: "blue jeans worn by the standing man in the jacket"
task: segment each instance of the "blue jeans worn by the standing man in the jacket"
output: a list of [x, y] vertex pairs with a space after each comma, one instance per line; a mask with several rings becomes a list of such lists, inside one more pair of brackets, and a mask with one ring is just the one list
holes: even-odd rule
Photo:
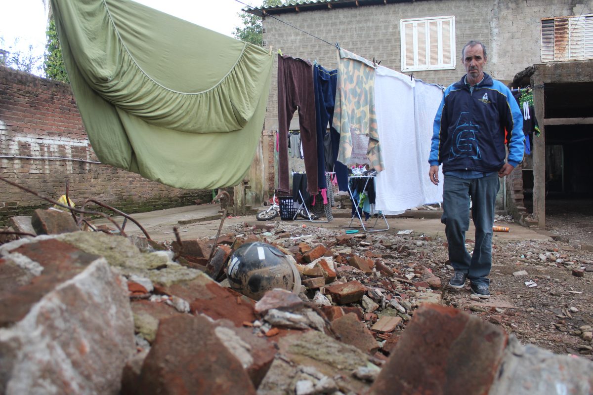
[[[500, 188], [498, 174], [481, 178], [458, 178], [445, 174], [443, 216], [449, 243], [449, 262], [456, 271], [467, 273], [474, 284], [490, 285], [487, 275], [492, 268], [492, 225], [496, 194]], [[476, 226], [474, 252], [466, 249], [466, 232], [471, 216]]]

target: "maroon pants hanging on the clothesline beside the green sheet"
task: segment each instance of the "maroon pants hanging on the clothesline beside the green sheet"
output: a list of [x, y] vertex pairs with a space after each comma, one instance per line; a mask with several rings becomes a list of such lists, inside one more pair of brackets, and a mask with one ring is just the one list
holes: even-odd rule
[[298, 108], [302, 150], [307, 172], [307, 191], [317, 195], [317, 131], [313, 66], [306, 60], [278, 55], [278, 190], [290, 192], [288, 128]]

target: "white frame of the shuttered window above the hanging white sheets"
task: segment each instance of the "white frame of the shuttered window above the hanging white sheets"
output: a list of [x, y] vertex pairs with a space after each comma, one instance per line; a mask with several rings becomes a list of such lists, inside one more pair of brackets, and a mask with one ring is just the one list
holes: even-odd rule
[[[437, 27], [437, 58], [439, 63], [436, 65], [430, 65], [431, 53], [430, 53], [430, 22], [436, 21], [438, 23]], [[449, 21], [450, 26], [450, 36], [451, 43], [450, 43], [450, 51], [451, 51], [451, 63], [443, 63], [442, 62], [442, 53], [443, 53], [443, 45], [442, 45], [442, 36], [443, 36], [443, 21]], [[426, 30], [425, 30], [425, 56], [426, 56], [426, 65], [418, 65], [418, 23], [426, 22]], [[406, 24], [412, 23], [412, 40], [413, 40], [413, 65], [406, 65]], [[438, 43], [441, 43], [440, 45]], [[406, 18], [400, 20], [400, 50], [401, 50], [401, 72], [414, 72], [414, 71], [428, 71], [428, 70], [454, 70], [457, 66], [457, 55], [455, 53], [455, 15], [447, 15], [442, 17], [424, 17], [424, 18]]]

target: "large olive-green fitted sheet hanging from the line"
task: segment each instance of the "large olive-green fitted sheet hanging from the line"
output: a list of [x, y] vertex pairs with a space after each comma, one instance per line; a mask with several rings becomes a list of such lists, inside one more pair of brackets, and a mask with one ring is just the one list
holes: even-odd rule
[[51, 0], [98, 159], [177, 188], [237, 185], [259, 144], [267, 50], [130, 0]]

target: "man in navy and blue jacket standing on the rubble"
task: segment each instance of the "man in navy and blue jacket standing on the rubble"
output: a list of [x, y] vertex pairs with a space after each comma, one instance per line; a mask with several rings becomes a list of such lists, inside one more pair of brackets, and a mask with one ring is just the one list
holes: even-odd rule
[[[483, 72], [486, 47], [470, 41], [463, 47], [466, 75], [445, 90], [436, 112], [429, 177], [438, 185], [443, 165], [443, 216], [449, 243], [449, 262], [455, 274], [453, 288], [470, 279], [471, 291], [490, 297], [492, 225], [499, 177], [509, 175], [523, 159], [523, 120], [517, 101], [500, 81]], [[509, 136], [506, 159], [505, 129]], [[476, 226], [474, 251], [466, 249], [471, 216]]]

